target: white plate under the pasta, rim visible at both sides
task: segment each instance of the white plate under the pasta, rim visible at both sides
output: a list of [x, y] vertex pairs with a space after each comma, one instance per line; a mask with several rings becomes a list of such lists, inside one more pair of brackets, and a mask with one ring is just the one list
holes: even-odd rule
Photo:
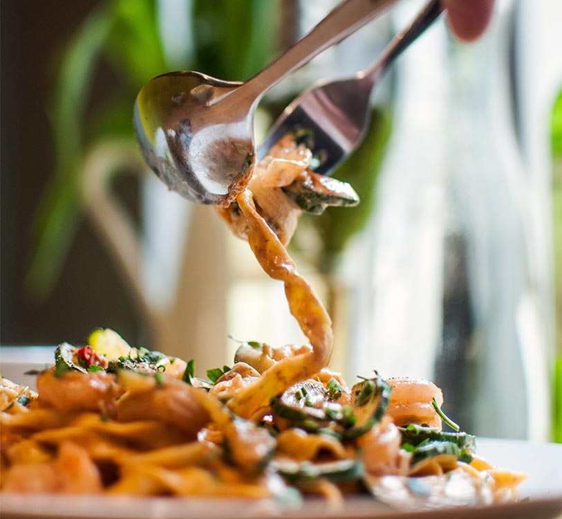
[[[24, 350], [30, 353], [30, 358], [21, 358]], [[0, 373], [32, 386], [32, 377], [22, 379], [24, 372], [52, 363], [53, 348], [30, 350], [2, 348]], [[30, 365], [30, 360], [33, 365]], [[238, 519], [283, 516], [293, 519], [562, 519], [562, 445], [489, 438], [477, 439], [476, 445], [478, 454], [489, 462], [529, 475], [520, 486], [522, 502], [402, 513], [389, 511], [373, 500], [354, 498], [346, 500], [344, 510], [332, 510], [325, 502], [310, 501], [297, 510], [280, 512], [268, 503], [232, 499], [0, 494], [1, 518]]]

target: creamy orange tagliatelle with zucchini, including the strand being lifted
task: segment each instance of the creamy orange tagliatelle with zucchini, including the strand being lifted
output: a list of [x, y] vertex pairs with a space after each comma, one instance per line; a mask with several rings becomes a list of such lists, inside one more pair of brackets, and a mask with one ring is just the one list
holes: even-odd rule
[[[328, 313], [284, 244], [303, 210], [339, 203], [308, 149], [284, 138], [221, 217], [285, 286], [309, 344], [241, 343], [232, 367], [196, 376], [193, 361], [131, 347], [115, 331], [63, 343], [37, 376], [39, 394], [0, 390], [0, 487], [8, 493], [223, 496], [333, 504], [368, 493], [397, 507], [517, 498], [524, 476], [474, 453], [474, 437], [444, 432], [439, 388], [384, 380], [351, 388], [327, 365]], [[337, 181], [336, 181], [337, 182]], [[302, 194], [312, 185], [312, 191]], [[328, 189], [328, 195], [327, 190]]]

